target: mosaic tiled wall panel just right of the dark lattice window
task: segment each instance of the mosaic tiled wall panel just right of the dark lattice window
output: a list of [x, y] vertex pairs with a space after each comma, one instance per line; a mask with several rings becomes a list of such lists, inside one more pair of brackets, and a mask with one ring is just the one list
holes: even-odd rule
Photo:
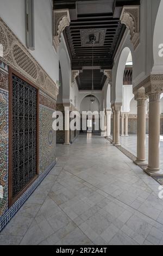
[[54, 110], [40, 106], [39, 172], [56, 160], [56, 135], [52, 129]]

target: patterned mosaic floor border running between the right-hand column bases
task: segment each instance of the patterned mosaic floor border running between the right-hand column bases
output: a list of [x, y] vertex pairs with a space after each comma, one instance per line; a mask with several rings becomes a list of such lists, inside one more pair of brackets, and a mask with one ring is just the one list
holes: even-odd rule
[[[107, 140], [111, 143], [112, 139], [107, 138]], [[119, 149], [124, 155], [126, 155], [131, 161], [136, 160], [136, 156], [130, 153], [127, 149], [123, 148], [122, 146], [115, 146], [117, 149]], [[145, 170], [145, 166], [137, 165], [139, 166], [142, 170]], [[147, 167], [147, 166], [146, 166]], [[163, 185], [163, 179], [162, 176], [152, 176], [154, 180], [156, 180], [160, 185]]]

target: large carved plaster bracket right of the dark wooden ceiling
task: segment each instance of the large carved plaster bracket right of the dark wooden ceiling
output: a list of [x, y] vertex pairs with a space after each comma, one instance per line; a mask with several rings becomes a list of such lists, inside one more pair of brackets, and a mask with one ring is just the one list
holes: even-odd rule
[[131, 42], [134, 45], [134, 50], [139, 45], [140, 41], [140, 6], [124, 6], [122, 9], [121, 23], [129, 28]]

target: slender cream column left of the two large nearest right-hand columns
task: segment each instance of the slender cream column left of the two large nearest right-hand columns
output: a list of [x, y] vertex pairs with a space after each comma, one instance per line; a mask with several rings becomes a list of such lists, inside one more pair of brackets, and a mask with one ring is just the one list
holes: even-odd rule
[[115, 146], [120, 146], [120, 112], [122, 103], [115, 103]]

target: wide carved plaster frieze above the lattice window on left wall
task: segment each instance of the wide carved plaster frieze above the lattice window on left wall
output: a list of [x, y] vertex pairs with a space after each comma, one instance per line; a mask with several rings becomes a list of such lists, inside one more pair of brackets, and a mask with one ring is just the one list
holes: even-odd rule
[[0, 44], [3, 45], [3, 57], [0, 60], [11, 66], [53, 99], [57, 100], [59, 88], [36, 62], [32, 54], [17, 39], [10, 28], [0, 18]]

